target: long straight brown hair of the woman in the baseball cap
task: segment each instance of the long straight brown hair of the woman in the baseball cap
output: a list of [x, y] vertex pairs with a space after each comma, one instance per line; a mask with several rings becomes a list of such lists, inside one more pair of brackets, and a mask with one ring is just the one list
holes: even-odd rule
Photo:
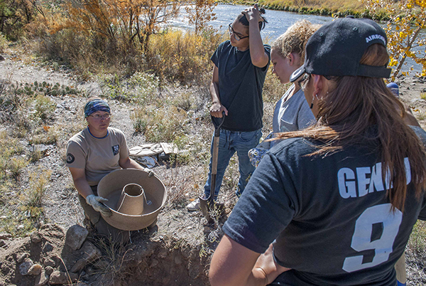
[[[379, 44], [370, 46], [360, 63], [386, 65], [386, 48]], [[322, 95], [318, 103], [317, 125], [281, 133], [278, 138], [320, 140], [323, 144], [312, 156], [327, 156], [354, 144], [376, 144], [381, 157], [382, 177], [389, 176], [391, 182], [386, 184], [386, 196], [394, 208], [403, 211], [407, 194], [404, 159], [410, 159], [411, 178], [419, 198], [426, 186], [426, 152], [413, 129], [403, 122], [405, 109], [402, 103], [386, 88], [382, 78], [342, 76], [332, 77], [331, 81], [334, 87]], [[374, 125], [378, 130], [377, 136], [366, 136]]]

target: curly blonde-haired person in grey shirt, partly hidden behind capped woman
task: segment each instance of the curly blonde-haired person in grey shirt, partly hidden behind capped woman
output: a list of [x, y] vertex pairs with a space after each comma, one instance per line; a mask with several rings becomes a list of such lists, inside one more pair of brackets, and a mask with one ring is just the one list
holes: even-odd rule
[[[290, 75], [303, 64], [305, 46], [320, 25], [310, 21], [297, 21], [285, 33], [279, 36], [271, 46], [271, 63], [273, 73], [283, 85], [290, 83]], [[299, 85], [291, 85], [283, 97], [278, 100], [273, 112], [273, 131], [256, 148], [249, 151], [253, 166], [258, 166], [263, 155], [278, 141], [269, 141], [278, 132], [305, 129], [315, 123], [315, 117], [307, 105], [305, 95]]]

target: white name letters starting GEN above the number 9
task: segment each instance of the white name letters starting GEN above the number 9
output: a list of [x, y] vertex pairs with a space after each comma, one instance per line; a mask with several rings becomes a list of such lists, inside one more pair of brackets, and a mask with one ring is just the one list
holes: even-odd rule
[[[407, 184], [411, 182], [410, 161], [404, 158], [405, 178]], [[358, 167], [354, 170], [350, 168], [341, 168], [337, 171], [337, 180], [339, 184], [339, 193], [342, 198], [356, 198], [371, 194], [374, 191], [384, 191], [383, 176], [381, 174], [381, 163], [369, 167]], [[388, 188], [391, 176], [386, 172], [385, 184]], [[358, 188], [357, 188], [358, 187]], [[392, 188], [392, 185], [391, 185]]]

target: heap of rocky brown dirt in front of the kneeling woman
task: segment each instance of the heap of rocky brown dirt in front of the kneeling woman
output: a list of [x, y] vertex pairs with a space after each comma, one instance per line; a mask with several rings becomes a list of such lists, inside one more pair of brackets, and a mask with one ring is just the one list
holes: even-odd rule
[[[98, 251], [87, 263], [84, 257]], [[92, 251], [92, 250], [96, 251]], [[65, 231], [46, 224], [0, 248], [0, 285], [206, 285], [207, 256], [158, 228], [133, 233], [128, 245], [89, 234], [80, 249], [65, 243]], [[131, 275], [129, 275], [131, 273]]]

